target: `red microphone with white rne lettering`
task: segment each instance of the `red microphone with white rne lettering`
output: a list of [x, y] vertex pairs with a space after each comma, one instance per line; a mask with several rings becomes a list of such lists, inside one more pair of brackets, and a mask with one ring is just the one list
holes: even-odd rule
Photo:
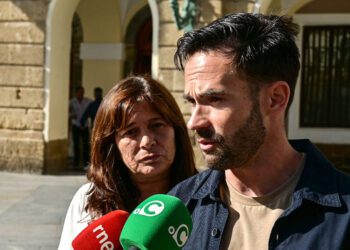
[[129, 213], [115, 210], [90, 223], [72, 242], [74, 250], [122, 250], [119, 236]]

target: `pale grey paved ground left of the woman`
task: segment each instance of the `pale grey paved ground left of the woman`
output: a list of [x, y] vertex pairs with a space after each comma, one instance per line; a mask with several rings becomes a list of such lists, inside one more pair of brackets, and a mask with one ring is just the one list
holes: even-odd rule
[[82, 174], [0, 172], [0, 249], [57, 249], [65, 213]]

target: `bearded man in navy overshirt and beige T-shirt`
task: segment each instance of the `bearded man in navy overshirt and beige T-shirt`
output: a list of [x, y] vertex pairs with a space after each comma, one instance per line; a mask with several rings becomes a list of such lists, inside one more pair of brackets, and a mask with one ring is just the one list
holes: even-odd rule
[[289, 17], [240, 13], [179, 39], [188, 127], [209, 168], [170, 192], [193, 218], [184, 249], [350, 249], [350, 178], [285, 131], [297, 32]]

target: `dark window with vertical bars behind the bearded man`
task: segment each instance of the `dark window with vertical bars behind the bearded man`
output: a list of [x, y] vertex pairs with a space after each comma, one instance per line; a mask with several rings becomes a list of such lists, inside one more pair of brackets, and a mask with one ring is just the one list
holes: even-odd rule
[[300, 123], [350, 128], [350, 25], [304, 27]]

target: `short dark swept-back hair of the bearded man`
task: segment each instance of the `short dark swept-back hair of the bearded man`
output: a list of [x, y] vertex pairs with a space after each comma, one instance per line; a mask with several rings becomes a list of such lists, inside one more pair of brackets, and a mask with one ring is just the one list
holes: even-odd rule
[[242, 79], [261, 86], [274, 81], [288, 83], [293, 100], [300, 68], [295, 43], [299, 27], [291, 17], [236, 13], [201, 29], [185, 33], [178, 40], [174, 62], [184, 70], [186, 60], [197, 52], [218, 51], [232, 58]]

